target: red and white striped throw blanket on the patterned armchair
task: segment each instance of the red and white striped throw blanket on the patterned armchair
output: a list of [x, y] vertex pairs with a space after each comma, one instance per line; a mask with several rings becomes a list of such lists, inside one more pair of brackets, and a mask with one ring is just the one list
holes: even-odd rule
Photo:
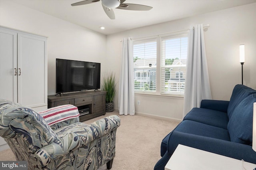
[[38, 114], [45, 119], [48, 125], [54, 125], [56, 123], [80, 116], [77, 107], [73, 105], [52, 107], [46, 111], [38, 112]]

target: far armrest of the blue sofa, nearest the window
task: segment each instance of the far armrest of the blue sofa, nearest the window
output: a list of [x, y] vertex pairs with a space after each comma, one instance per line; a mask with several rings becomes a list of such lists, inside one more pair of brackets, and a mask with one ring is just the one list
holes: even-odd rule
[[200, 108], [211, 109], [227, 113], [229, 101], [222, 100], [202, 100]]

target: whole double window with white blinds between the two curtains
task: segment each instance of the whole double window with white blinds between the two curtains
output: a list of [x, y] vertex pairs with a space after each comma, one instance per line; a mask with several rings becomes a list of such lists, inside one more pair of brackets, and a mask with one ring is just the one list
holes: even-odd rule
[[134, 41], [135, 92], [184, 95], [187, 52], [188, 31]]

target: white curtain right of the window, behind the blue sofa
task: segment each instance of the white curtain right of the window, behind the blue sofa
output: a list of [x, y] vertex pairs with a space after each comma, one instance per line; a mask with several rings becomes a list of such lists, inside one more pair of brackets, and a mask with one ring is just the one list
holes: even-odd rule
[[212, 95], [206, 60], [204, 29], [203, 24], [199, 24], [190, 28], [188, 34], [183, 117], [193, 107], [200, 107], [202, 99], [212, 99]]

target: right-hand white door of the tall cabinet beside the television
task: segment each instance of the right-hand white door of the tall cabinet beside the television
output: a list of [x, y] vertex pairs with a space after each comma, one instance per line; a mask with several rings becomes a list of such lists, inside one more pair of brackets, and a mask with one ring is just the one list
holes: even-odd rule
[[18, 34], [18, 103], [47, 106], [46, 38]]

